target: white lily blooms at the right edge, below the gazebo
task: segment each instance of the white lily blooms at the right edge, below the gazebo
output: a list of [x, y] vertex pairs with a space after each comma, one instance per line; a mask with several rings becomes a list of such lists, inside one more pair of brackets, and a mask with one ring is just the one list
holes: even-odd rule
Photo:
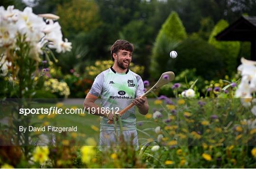
[[235, 96], [252, 98], [252, 93], [256, 92], [256, 61], [241, 58], [241, 63], [238, 72], [240, 72], [242, 78]]

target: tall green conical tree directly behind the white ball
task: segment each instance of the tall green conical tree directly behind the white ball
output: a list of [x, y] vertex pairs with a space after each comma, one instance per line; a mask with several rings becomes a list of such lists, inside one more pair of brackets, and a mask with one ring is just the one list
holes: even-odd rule
[[161, 72], [168, 70], [166, 63], [169, 52], [174, 50], [187, 37], [185, 28], [176, 12], [172, 12], [162, 25], [156, 37], [151, 58], [150, 73], [158, 78]]

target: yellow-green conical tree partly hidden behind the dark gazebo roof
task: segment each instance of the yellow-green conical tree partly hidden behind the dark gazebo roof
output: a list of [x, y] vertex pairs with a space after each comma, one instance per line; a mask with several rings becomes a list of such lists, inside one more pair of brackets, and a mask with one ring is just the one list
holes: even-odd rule
[[213, 28], [209, 43], [219, 50], [224, 58], [224, 64], [226, 65], [226, 71], [229, 75], [235, 71], [237, 66], [237, 57], [240, 51], [240, 42], [221, 42], [215, 39], [215, 36], [229, 26], [229, 23], [225, 20], [220, 20]]

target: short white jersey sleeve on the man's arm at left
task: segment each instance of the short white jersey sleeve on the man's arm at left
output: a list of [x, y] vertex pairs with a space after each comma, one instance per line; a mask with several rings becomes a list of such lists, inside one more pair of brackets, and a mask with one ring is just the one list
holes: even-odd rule
[[103, 73], [95, 77], [94, 82], [91, 86], [90, 94], [99, 97], [103, 88], [104, 75]]

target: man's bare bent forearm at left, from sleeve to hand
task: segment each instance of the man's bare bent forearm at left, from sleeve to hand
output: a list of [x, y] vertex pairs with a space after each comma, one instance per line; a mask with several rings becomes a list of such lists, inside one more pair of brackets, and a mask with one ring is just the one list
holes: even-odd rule
[[[93, 115], [97, 115], [97, 116], [103, 116], [103, 117], [106, 117], [110, 120], [113, 120], [113, 112], [110, 112], [110, 113], [106, 113], [104, 111], [101, 111], [101, 107], [97, 106], [97, 104], [95, 104], [95, 101], [98, 99], [97, 96], [94, 96], [93, 94], [91, 93], [88, 93], [86, 95], [86, 98], [85, 100], [83, 101], [83, 107], [85, 108], [86, 111], [90, 111], [90, 112], [93, 112], [91, 114]], [[93, 110], [92, 110], [93, 108]]]

